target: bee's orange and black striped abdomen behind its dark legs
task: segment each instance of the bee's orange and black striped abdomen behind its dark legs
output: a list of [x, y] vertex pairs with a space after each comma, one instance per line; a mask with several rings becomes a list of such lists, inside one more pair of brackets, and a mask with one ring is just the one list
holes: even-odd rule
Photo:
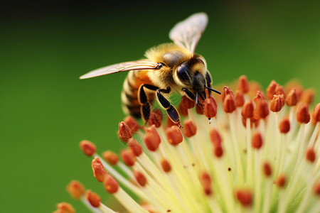
[[[121, 99], [122, 109], [124, 113], [131, 114], [136, 118], [141, 118], [141, 105], [138, 100], [139, 87], [142, 84], [152, 84], [147, 72], [149, 70], [134, 70], [130, 71], [124, 80]], [[154, 100], [154, 92], [146, 92], [149, 102]]]

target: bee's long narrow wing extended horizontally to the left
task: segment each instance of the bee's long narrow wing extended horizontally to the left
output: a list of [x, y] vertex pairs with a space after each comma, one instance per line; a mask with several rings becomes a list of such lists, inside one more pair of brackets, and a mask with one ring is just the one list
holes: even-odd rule
[[130, 70], [156, 70], [158, 63], [151, 62], [150, 60], [135, 60], [130, 62], [123, 62], [107, 67], [101, 67], [97, 70], [92, 70], [85, 75], [80, 76], [80, 79], [86, 79], [90, 77], [97, 77], [100, 75], [108, 75], [114, 72], [126, 72]]

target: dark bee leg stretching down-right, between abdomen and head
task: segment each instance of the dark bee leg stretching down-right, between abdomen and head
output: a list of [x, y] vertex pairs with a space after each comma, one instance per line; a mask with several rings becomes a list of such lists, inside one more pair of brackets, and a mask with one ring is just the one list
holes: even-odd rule
[[156, 90], [156, 97], [158, 98], [159, 103], [161, 104], [164, 109], [166, 109], [166, 114], [168, 114], [171, 121], [173, 121], [175, 124], [180, 124], [180, 116], [178, 114], [178, 111], [176, 110], [176, 107], [172, 106], [170, 102], [164, 97], [162, 93], [168, 94], [171, 91], [170, 87], [166, 89], [157, 89]]

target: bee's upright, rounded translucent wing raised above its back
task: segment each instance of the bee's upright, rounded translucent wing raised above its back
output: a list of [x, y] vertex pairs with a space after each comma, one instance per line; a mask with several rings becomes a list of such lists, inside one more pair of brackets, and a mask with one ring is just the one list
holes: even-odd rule
[[169, 38], [176, 45], [187, 48], [192, 53], [196, 49], [196, 45], [201, 38], [203, 31], [206, 29], [208, 16], [206, 13], [195, 13], [171, 29]]

